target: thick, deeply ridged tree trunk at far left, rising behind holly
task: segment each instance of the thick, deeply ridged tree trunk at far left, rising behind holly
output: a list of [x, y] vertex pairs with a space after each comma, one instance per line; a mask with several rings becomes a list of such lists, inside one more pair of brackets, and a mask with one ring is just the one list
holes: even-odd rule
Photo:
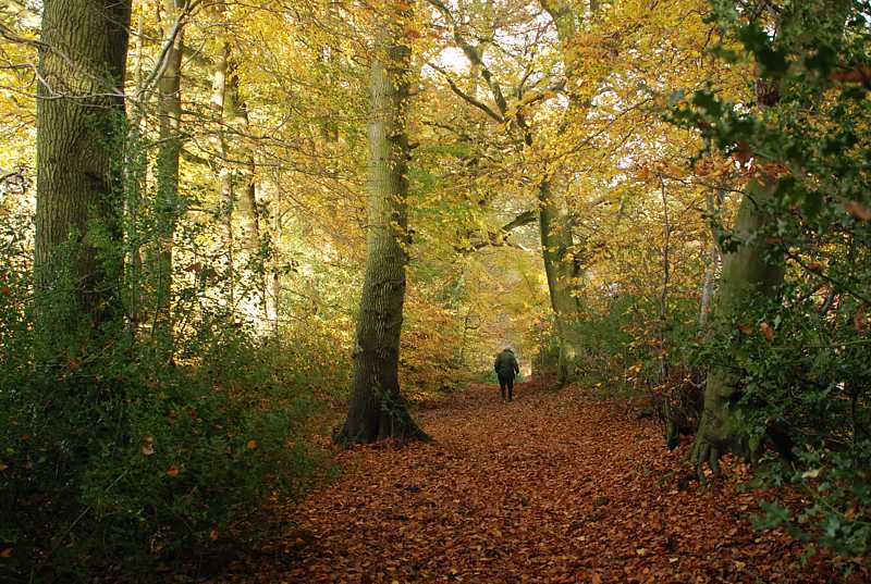
[[119, 318], [128, 0], [46, 0], [37, 100], [38, 327], [57, 355]]

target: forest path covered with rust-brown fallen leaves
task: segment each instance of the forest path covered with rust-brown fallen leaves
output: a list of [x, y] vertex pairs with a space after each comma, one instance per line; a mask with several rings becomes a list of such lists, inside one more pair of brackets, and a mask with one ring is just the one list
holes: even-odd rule
[[[429, 444], [339, 452], [247, 573], [220, 582], [839, 582], [758, 532], [743, 464], [701, 488], [625, 401], [533, 382], [503, 403], [471, 385], [418, 411]], [[854, 576], [851, 582], [861, 582]], [[216, 581], [218, 582], [218, 581]]]

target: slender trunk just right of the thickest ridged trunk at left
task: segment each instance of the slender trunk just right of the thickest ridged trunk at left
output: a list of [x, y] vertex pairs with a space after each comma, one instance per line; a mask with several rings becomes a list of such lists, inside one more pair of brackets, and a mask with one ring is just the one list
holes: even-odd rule
[[156, 306], [154, 333], [163, 349], [172, 352], [172, 248], [175, 223], [180, 213], [179, 158], [182, 152], [182, 54], [184, 52], [184, 28], [177, 22], [181, 5], [176, 0], [163, 1], [163, 35], [170, 40], [175, 32], [158, 80], [160, 147], [157, 152], [157, 253], [156, 253]]

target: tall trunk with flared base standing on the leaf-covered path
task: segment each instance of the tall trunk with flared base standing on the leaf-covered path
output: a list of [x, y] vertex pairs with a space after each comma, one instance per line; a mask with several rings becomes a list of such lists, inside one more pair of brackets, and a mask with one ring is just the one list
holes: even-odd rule
[[[384, 11], [369, 77], [369, 225], [366, 276], [357, 322], [354, 386], [336, 440], [426, 438], [400, 394], [398, 358], [408, 256], [407, 110], [410, 50], [400, 42], [410, 9]], [[392, 10], [391, 10], [392, 9]]]

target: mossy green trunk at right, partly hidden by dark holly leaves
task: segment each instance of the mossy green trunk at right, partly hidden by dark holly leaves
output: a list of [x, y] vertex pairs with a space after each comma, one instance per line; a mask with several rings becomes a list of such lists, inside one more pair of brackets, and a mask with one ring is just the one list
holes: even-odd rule
[[[726, 253], [715, 307], [716, 325], [732, 326], [751, 302], [776, 296], [784, 277], [784, 261], [776, 246], [765, 241], [761, 233], [774, 220], [768, 206], [775, 185], [752, 182], [747, 187], [735, 226], [740, 247]], [[696, 434], [691, 459], [699, 464], [710, 462], [717, 471], [717, 460], [725, 452], [749, 458], [748, 435], [741, 430], [741, 375], [734, 366], [715, 365], [708, 374], [704, 409]], [[700, 473], [701, 476], [701, 473]]]

